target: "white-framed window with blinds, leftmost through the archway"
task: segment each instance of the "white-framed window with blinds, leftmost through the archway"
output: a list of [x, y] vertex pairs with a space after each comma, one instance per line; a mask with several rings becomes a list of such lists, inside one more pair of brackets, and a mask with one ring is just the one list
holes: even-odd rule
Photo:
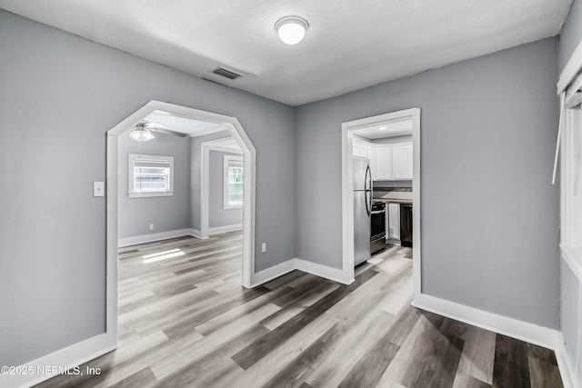
[[174, 156], [129, 154], [130, 198], [174, 195]]

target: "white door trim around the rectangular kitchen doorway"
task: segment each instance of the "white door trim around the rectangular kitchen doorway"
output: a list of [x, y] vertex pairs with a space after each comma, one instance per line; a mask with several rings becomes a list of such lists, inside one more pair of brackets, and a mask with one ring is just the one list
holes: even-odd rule
[[386, 121], [412, 119], [413, 178], [413, 281], [415, 299], [421, 294], [420, 255], [420, 108], [379, 114], [342, 123], [342, 272], [346, 283], [354, 281], [354, 187], [352, 132], [363, 126]]

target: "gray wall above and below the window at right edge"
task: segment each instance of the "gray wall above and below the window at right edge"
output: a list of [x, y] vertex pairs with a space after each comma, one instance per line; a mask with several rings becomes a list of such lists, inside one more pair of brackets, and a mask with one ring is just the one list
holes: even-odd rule
[[[567, 16], [566, 24], [562, 28], [558, 45], [559, 69], [564, 69], [568, 59], [582, 41], [582, 1], [575, 0]], [[579, 311], [579, 287], [577, 278], [566, 262], [561, 264], [561, 329], [566, 343], [567, 354], [571, 364], [578, 371], [582, 371], [582, 358], [577, 363], [578, 328], [582, 322], [578, 322]], [[578, 382], [579, 383], [579, 382]]]

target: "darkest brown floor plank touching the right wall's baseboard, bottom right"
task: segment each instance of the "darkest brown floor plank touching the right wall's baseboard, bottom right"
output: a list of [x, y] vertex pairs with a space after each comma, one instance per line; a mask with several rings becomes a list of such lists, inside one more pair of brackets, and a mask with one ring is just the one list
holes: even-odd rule
[[527, 343], [497, 334], [495, 365], [493, 367], [494, 388], [530, 388]]

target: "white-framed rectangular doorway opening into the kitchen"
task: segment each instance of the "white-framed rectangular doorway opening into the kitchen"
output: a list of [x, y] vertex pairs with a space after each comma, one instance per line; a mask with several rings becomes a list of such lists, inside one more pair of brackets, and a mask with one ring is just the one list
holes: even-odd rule
[[[409, 137], [406, 139], [405, 135]], [[366, 174], [359, 174], [356, 170], [365, 170], [358, 167], [359, 164], [368, 166], [369, 171]], [[364, 178], [366, 181], [358, 185], [355, 182], [356, 175], [366, 176]], [[386, 193], [391, 194], [380, 194], [376, 191], [375, 195], [374, 183], [379, 182], [383, 183], [382, 188], [386, 190]], [[398, 184], [395, 184], [396, 182]], [[361, 206], [359, 204], [361, 201], [355, 201], [360, 197], [358, 192], [364, 193], [361, 197], [364, 198], [365, 203]], [[368, 192], [369, 194], [366, 194]], [[376, 196], [376, 204], [374, 196]], [[387, 201], [388, 196], [391, 201]], [[385, 200], [382, 197], [385, 197]], [[412, 246], [413, 299], [416, 299], [421, 293], [420, 205], [420, 108], [379, 114], [343, 123], [342, 268], [346, 279], [354, 279], [355, 264], [358, 264], [356, 257], [362, 255], [370, 257], [371, 254], [369, 249], [365, 253], [356, 252], [357, 246], [365, 246], [363, 243], [366, 242], [358, 243], [356, 241], [358, 235], [360, 238], [367, 238], [367, 246], [372, 243], [371, 249], [375, 249], [372, 238], [374, 236], [371, 235], [371, 225], [369, 225], [372, 213], [381, 212], [380, 208], [384, 207], [383, 211], [386, 213], [383, 214], [387, 214], [385, 216], [389, 220], [391, 215], [396, 217], [397, 206], [399, 224], [386, 223], [386, 234], [381, 237], [378, 237], [378, 234], [376, 237], [382, 241], [386, 239], [388, 244]], [[364, 212], [367, 214], [366, 217], [358, 216], [359, 213]], [[403, 215], [405, 221], [402, 221]], [[408, 223], [406, 217], [411, 217], [411, 223]], [[355, 225], [358, 218], [360, 225]], [[406, 226], [410, 224], [411, 231], [406, 229]], [[401, 226], [405, 226], [404, 230]], [[367, 232], [362, 233], [364, 228], [367, 228]]]

